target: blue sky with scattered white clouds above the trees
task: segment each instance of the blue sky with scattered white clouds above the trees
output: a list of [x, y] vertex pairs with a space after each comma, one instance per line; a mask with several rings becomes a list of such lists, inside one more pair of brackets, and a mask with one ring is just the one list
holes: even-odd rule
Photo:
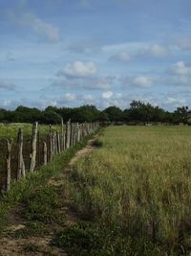
[[0, 107], [191, 107], [190, 0], [0, 0]]

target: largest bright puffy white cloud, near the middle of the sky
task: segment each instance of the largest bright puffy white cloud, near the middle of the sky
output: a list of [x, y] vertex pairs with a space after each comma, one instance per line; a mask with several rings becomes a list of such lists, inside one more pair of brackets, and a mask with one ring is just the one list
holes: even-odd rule
[[69, 79], [74, 78], [86, 78], [96, 75], [97, 67], [93, 61], [74, 61], [73, 63], [68, 63], [64, 68], [62, 68], [57, 76], [65, 76]]

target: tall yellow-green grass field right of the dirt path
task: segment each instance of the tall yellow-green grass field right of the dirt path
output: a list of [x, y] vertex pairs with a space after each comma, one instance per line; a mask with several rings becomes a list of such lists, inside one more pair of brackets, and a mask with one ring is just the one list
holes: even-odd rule
[[64, 231], [55, 244], [82, 236], [91, 247], [80, 255], [188, 255], [191, 128], [110, 127], [97, 145], [69, 181], [78, 209], [94, 225]]

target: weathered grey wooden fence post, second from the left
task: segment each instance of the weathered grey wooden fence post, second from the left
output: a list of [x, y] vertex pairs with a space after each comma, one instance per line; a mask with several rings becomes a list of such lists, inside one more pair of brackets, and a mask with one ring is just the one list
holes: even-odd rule
[[16, 178], [19, 180], [21, 176], [25, 176], [25, 163], [23, 159], [23, 130], [19, 128], [18, 130], [18, 138], [17, 138], [17, 145], [18, 145], [18, 169]]

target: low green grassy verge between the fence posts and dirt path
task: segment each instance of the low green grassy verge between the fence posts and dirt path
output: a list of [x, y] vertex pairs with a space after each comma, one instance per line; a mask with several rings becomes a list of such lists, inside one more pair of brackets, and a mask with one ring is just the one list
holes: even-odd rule
[[61, 173], [74, 153], [83, 148], [90, 137], [91, 135], [87, 136], [74, 147], [56, 155], [51, 163], [27, 175], [25, 179], [11, 184], [11, 191], [0, 198], [0, 235], [8, 224], [11, 211], [18, 205], [19, 216], [26, 222], [27, 232], [23, 229], [14, 232], [15, 236], [27, 237], [29, 233], [33, 235], [44, 233], [47, 232], [44, 223], [63, 221], [56, 209], [59, 209], [62, 203], [64, 190], [56, 191], [47, 183], [51, 177]]

